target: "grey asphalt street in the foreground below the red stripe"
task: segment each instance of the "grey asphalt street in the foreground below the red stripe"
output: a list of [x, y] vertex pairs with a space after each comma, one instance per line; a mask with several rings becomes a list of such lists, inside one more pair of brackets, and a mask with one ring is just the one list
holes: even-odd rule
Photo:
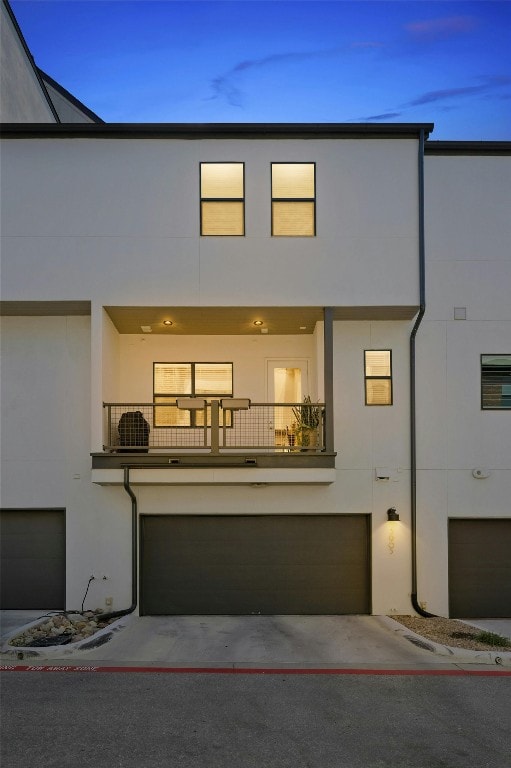
[[510, 768], [511, 679], [3, 672], [2, 768]]

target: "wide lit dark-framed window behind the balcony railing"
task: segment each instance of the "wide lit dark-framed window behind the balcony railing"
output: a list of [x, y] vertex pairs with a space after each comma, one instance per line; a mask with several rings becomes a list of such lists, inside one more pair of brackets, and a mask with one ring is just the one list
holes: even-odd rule
[[[203, 427], [204, 411], [181, 410], [176, 400], [197, 397], [210, 403], [232, 394], [232, 363], [153, 363], [153, 402], [159, 405], [154, 409], [155, 427]], [[162, 407], [165, 403], [168, 407]]]

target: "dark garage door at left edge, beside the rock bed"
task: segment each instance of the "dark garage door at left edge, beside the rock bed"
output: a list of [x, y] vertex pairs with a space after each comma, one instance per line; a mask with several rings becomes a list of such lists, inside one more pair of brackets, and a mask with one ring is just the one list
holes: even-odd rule
[[64, 510], [4, 509], [0, 533], [2, 609], [64, 608]]

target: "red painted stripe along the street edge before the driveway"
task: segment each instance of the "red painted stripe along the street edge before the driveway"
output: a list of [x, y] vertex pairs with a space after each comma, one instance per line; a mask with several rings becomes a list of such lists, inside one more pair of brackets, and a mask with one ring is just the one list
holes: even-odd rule
[[511, 669], [342, 669], [276, 667], [94, 667], [89, 665], [40, 664], [24, 666], [2, 664], [0, 672], [144, 672], [152, 674], [193, 675], [401, 675], [433, 677], [511, 677]]

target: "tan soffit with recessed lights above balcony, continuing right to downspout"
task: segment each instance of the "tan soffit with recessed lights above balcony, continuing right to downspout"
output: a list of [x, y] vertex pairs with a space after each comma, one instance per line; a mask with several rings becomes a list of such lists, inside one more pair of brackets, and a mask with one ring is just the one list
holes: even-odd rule
[[[105, 307], [119, 333], [192, 336], [313, 333], [322, 307]], [[334, 320], [409, 320], [415, 306], [335, 307]], [[164, 325], [170, 320], [172, 325]], [[261, 320], [262, 325], [254, 325]], [[151, 331], [144, 331], [150, 327]]]

